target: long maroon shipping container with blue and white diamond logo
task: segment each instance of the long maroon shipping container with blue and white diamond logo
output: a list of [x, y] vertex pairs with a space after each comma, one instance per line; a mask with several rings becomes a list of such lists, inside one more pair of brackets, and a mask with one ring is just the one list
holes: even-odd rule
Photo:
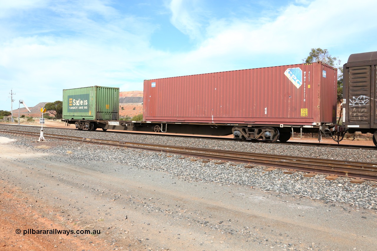
[[144, 120], [336, 122], [337, 69], [321, 62], [144, 80]]

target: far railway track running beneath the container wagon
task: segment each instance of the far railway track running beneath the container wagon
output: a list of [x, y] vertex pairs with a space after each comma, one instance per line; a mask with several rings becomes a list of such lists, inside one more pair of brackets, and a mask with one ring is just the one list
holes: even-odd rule
[[[13, 124], [1, 124], [4, 126], [18, 126]], [[25, 126], [22, 126], [25, 127]], [[27, 126], [27, 127], [40, 127], [40, 126]], [[43, 128], [49, 128], [49, 129], [60, 129], [60, 130], [77, 130], [74, 128], [61, 128], [61, 127], [43, 127]], [[148, 132], [134, 132], [134, 131], [112, 131], [108, 130], [106, 132], [103, 131], [97, 131], [100, 133], [127, 133], [132, 135], [151, 135], [151, 136], [161, 136], [161, 137], [178, 137], [178, 138], [198, 138], [198, 139], [214, 139], [214, 140], [223, 140], [223, 141], [237, 141], [237, 139], [234, 138], [225, 138], [222, 136], [205, 136], [205, 135], [178, 135], [178, 134], [169, 134], [169, 133], [148, 133]], [[271, 144], [264, 141], [250, 141], [245, 140], [245, 142], [257, 142], [262, 144]], [[296, 141], [287, 141], [287, 142], [275, 142], [273, 144], [280, 144], [280, 145], [303, 145], [303, 146], [317, 146], [317, 147], [335, 147], [335, 148], [351, 148], [351, 149], [373, 149], [377, 150], [377, 147], [372, 145], [351, 145], [351, 144], [329, 144], [329, 143], [316, 143], [316, 142], [296, 142]]]

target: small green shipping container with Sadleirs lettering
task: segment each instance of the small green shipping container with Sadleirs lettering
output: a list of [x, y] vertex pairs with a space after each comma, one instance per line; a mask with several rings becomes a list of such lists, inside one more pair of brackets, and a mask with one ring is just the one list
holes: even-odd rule
[[63, 119], [118, 120], [119, 88], [91, 86], [63, 90]]

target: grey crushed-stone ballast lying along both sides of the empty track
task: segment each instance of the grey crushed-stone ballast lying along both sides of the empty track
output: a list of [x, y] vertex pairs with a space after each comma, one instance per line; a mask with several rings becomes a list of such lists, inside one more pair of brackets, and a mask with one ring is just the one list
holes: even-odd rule
[[[0, 125], [8, 129], [8, 126]], [[14, 129], [20, 127], [14, 126]], [[9, 128], [10, 129], [10, 128]], [[22, 127], [23, 130], [39, 132], [38, 127]], [[297, 145], [260, 144], [250, 142], [216, 141], [209, 139], [161, 137], [149, 135], [129, 135], [124, 133], [102, 133], [78, 130], [44, 129], [44, 133], [81, 136], [83, 138], [103, 138], [118, 141], [148, 142], [165, 145], [189, 145], [190, 147], [214, 148], [222, 150], [247, 151], [292, 156], [310, 156], [328, 159], [343, 159], [345, 161], [377, 162], [375, 150], [355, 150], [345, 148], [312, 147]], [[326, 175], [317, 174], [314, 177], [304, 177], [305, 172], [284, 173], [276, 169], [264, 171], [265, 167], [256, 166], [245, 168], [245, 164], [218, 161], [192, 161], [179, 155], [156, 153], [140, 150], [130, 150], [120, 147], [83, 144], [77, 142], [63, 143], [62, 141], [47, 139], [48, 142], [60, 142], [54, 147], [35, 147], [31, 137], [14, 136], [0, 133], [0, 136], [17, 139], [12, 144], [32, 147], [38, 151], [54, 153], [57, 156], [70, 156], [74, 162], [80, 159], [86, 162], [104, 161], [129, 164], [137, 168], [159, 170], [172, 174], [184, 180], [216, 182], [219, 185], [238, 184], [264, 191], [291, 194], [297, 197], [308, 197], [325, 203], [338, 202], [350, 206], [354, 210], [359, 208], [377, 210], [377, 182], [366, 181], [353, 184], [351, 179], [340, 177], [329, 181]], [[36, 140], [36, 139], [33, 139]], [[37, 143], [39, 146], [43, 142]]]

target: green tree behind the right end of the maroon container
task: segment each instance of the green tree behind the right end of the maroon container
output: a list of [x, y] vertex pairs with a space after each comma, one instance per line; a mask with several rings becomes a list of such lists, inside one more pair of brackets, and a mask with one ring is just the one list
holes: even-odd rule
[[338, 68], [338, 88], [337, 88], [337, 102], [341, 103], [343, 98], [343, 67], [340, 66], [340, 60], [337, 57], [332, 57], [327, 49], [312, 48], [309, 56], [302, 60], [303, 63], [314, 63], [322, 61], [329, 66]]

